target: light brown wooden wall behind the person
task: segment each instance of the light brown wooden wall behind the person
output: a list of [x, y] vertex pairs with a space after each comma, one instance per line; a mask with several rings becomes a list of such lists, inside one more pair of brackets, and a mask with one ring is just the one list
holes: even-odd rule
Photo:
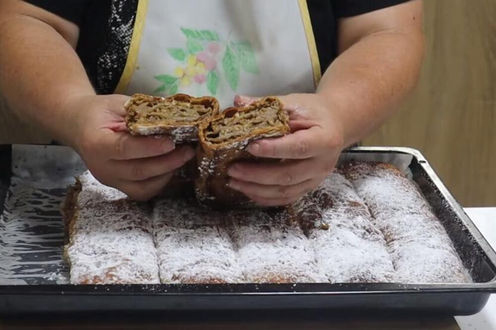
[[[424, 0], [419, 85], [364, 145], [422, 151], [464, 206], [496, 206], [496, 1]], [[0, 143], [46, 143], [0, 104]]]

